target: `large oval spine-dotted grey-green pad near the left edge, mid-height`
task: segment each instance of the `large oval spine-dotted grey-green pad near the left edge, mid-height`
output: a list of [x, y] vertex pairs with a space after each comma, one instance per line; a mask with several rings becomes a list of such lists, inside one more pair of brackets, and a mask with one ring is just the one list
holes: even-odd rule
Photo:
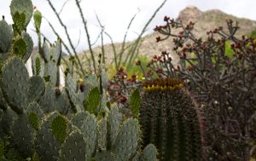
[[2, 68], [1, 85], [9, 106], [21, 113], [27, 104], [29, 89], [28, 73], [22, 60], [12, 57], [6, 61]]

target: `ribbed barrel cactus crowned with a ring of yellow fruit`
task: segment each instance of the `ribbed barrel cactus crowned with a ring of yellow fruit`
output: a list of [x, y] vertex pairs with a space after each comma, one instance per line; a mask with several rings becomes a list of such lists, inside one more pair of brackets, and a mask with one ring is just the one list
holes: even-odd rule
[[183, 81], [160, 78], [143, 84], [140, 110], [143, 147], [153, 143], [160, 160], [202, 159], [200, 118]]

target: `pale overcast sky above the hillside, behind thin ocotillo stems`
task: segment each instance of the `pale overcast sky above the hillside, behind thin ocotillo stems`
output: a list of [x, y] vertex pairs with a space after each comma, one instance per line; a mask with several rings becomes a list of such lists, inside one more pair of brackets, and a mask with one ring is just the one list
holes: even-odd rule
[[[5, 15], [5, 20], [12, 23], [9, 11], [11, 0], [0, 0], [0, 15]], [[57, 12], [61, 10], [61, 6], [66, 0], [52, 0]], [[54, 26], [57, 32], [61, 34], [62, 39], [67, 42], [63, 29], [58, 23], [53, 11], [49, 8], [47, 0], [32, 0], [33, 5], [46, 17]], [[131, 29], [128, 34], [128, 40], [137, 37], [137, 33], [141, 32], [143, 26], [154, 13], [154, 10], [162, 3], [162, 0], [81, 0], [81, 7], [84, 12], [84, 18], [88, 21], [91, 42], [96, 40], [100, 33], [100, 28], [96, 20], [96, 14], [100, 18], [102, 25], [105, 26], [105, 31], [108, 32], [114, 42], [122, 41], [124, 33], [128, 26], [131, 17], [137, 14]], [[153, 32], [154, 26], [163, 23], [163, 17], [168, 15], [172, 18], [177, 18], [180, 10], [187, 6], [195, 6], [202, 11], [208, 9], [220, 9], [227, 14], [233, 14], [237, 17], [256, 20], [256, 0], [168, 0], [166, 5], [156, 15], [151, 25], [148, 27], [148, 32]], [[87, 49], [87, 41], [84, 32], [84, 26], [79, 16], [79, 10], [75, 4], [75, 0], [69, 0], [67, 5], [61, 12], [61, 19], [66, 24], [68, 32], [72, 37], [74, 46], [80, 42], [77, 49]], [[27, 32], [30, 33], [34, 42], [37, 42], [37, 37], [32, 32], [33, 25], [29, 24]], [[50, 41], [54, 42], [56, 37], [51, 32], [46, 20], [43, 20], [41, 32], [44, 33]], [[0, 36], [1, 37], [1, 36]], [[108, 37], [104, 38], [106, 43], [109, 43]], [[96, 43], [96, 44], [100, 44]]]

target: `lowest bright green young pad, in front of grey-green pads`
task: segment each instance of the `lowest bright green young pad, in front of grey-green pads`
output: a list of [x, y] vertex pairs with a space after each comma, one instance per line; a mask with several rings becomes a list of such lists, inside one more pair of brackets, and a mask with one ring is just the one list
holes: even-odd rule
[[57, 116], [51, 123], [50, 127], [55, 135], [55, 138], [64, 142], [67, 135], [67, 121], [62, 116]]

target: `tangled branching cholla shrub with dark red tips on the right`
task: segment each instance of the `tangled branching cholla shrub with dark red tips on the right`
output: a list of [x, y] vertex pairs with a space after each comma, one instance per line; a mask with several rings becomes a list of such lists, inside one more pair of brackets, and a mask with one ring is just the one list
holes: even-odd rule
[[[164, 51], [148, 63], [160, 78], [182, 78], [204, 112], [205, 151], [208, 160], [248, 160], [255, 149], [256, 43], [252, 37], [236, 37], [238, 26], [227, 20], [202, 39], [193, 34], [194, 23], [165, 17], [156, 26], [163, 37], [172, 37], [180, 64], [172, 66]], [[172, 29], [180, 29], [178, 34]], [[225, 32], [228, 31], [228, 32]], [[192, 54], [192, 56], [191, 56]]]

